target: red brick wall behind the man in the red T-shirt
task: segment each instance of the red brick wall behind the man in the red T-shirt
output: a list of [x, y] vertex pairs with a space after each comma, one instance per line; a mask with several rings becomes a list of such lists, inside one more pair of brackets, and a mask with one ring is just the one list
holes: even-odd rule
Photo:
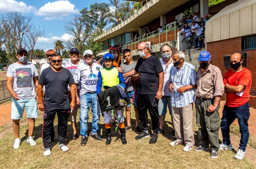
[[[242, 52], [241, 41], [242, 38], [238, 37], [207, 43], [207, 51], [210, 52], [213, 60], [212, 64], [220, 68], [223, 78], [225, 73], [228, 71], [224, 67], [223, 56]], [[251, 107], [256, 108], [256, 50], [246, 50], [243, 52], [247, 52], [247, 68], [252, 72], [252, 88], [249, 103]], [[226, 94], [223, 95], [223, 99], [226, 99]]]

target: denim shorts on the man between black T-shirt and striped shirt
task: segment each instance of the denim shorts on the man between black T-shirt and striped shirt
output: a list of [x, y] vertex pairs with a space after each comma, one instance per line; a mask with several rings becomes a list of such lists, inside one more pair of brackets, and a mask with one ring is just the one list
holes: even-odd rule
[[158, 102], [158, 114], [165, 115], [167, 113], [167, 106], [169, 113], [172, 116], [171, 96], [162, 96]]

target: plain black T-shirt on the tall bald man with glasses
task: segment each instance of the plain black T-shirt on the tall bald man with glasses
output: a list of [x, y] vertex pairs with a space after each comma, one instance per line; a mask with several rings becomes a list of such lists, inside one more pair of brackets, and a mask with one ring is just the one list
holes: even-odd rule
[[140, 57], [135, 71], [139, 73], [138, 93], [156, 94], [159, 83], [158, 73], [164, 71], [160, 60], [153, 55], [146, 59]]

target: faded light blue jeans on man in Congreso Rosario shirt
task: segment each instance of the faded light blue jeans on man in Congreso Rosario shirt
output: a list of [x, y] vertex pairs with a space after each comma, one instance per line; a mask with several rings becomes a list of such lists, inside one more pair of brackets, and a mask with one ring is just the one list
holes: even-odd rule
[[88, 111], [89, 107], [92, 107], [92, 135], [97, 133], [99, 129], [98, 123], [100, 122], [100, 104], [97, 100], [97, 93], [86, 93], [80, 96], [80, 135], [87, 136], [87, 121], [88, 121]]

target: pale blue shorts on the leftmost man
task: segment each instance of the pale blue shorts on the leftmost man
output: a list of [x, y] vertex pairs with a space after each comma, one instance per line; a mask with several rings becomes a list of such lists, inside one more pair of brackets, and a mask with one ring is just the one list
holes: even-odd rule
[[24, 113], [24, 108], [26, 107], [26, 113], [28, 118], [37, 118], [38, 110], [36, 104], [36, 98], [33, 99], [21, 99], [14, 100], [12, 98], [12, 113], [11, 119], [20, 120]]

